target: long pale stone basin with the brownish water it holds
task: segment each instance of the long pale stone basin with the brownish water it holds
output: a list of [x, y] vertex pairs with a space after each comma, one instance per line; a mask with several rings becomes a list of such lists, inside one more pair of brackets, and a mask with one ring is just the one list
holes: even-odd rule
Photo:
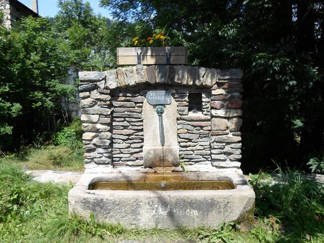
[[[169, 189], [161, 187], [168, 183]], [[70, 212], [86, 218], [93, 212], [99, 221], [126, 227], [173, 229], [249, 222], [255, 194], [235, 173], [114, 172], [84, 174], [68, 200]]]

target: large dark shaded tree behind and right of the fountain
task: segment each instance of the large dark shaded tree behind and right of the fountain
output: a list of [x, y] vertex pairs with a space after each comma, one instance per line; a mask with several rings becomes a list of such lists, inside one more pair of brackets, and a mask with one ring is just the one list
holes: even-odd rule
[[300, 167], [323, 148], [323, 1], [101, 0], [119, 21], [180, 33], [189, 61], [244, 70], [242, 166]]

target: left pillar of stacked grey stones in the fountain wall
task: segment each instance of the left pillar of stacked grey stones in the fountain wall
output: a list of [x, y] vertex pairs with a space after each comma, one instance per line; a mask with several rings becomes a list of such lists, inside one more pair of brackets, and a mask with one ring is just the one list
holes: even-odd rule
[[93, 170], [101, 166], [94, 172], [102, 173], [107, 171], [107, 167], [112, 168], [112, 103], [110, 90], [105, 85], [106, 76], [105, 72], [79, 73], [85, 167]]

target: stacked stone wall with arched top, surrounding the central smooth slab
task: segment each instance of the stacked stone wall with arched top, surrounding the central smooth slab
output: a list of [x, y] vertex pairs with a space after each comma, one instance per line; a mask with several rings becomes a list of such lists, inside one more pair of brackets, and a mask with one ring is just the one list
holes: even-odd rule
[[[240, 172], [241, 77], [239, 69], [165, 65], [79, 72], [86, 171], [159, 170], [143, 168], [142, 107], [148, 91], [169, 90], [186, 170]], [[200, 111], [189, 109], [192, 93], [201, 94]]]

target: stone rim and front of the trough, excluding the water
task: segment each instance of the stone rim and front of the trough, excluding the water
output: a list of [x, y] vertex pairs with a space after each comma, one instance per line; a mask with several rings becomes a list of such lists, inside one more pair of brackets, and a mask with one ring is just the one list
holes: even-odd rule
[[[86, 218], [89, 218], [92, 212], [99, 221], [121, 223], [125, 227], [154, 228], [158, 225], [159, 228], [166, 229], [178, 228], [179, 225], [185, 227], [205, 225], [214, 228], [223, 222], [228, 223], [238, 218], [240, 220], [247, 217], [253, 218], [253, 213], [249, 212], [253, 212], [255, 194], [252, 188], [246, 185], [247, 182], [242, 175], [226, 175], [237, 185], [232, 190], [179, 190], [172, 191], [172, 195], [170, 195], [170, 191], [144, 190], [111, 190], [106, 194], [93, 190], [89, 193], [87, 188], [97, 176], [89, 174], [86, 173], [69, 192], [70, 212], [73, 211]], [[186, 180], [195, 178], [205, 181], [224, 179], [219, 173], [213, 172], [183, 174], [181, 176], [184, 176]], [[138, 176], [135, 172], [100, 175], [106, 181], [120, 181], [140, 176], [143, 176], [143, 173]], [[157, 205], [158, 207], [156, 207]], [[247, 213], [249, 215], [246, 215]], [[175, 221], [175, 219], [177, 220]]]

